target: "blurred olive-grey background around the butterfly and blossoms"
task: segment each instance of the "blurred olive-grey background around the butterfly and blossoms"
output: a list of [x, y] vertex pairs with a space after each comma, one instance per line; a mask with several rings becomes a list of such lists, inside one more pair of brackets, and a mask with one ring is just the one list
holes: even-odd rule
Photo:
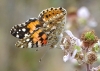
[[[85, 22], [85, 27], [94, 29], [100, 37], [100, 0], [0, 0], [0, 71], [84, 71], [84, 67], [71, 61], [64, 63], [63, 51], [60, 49], [49, 50], [39, 62], [49, 47], [37, 52], [36, 49], [15, 47], [17, 39], [10, 34], [11, 27], [31, 17], [38, 17], [42, 10], [49, 7], [64, 7], [69, 11], [68, 18], [73, 16], [70, 7], [74, 8], [74, 16], [81, 7], [85, 7], [89, 11], [88, 17], [84, 18], [89, 22]], [[95, 63], [98, 64], [100, 63]]]

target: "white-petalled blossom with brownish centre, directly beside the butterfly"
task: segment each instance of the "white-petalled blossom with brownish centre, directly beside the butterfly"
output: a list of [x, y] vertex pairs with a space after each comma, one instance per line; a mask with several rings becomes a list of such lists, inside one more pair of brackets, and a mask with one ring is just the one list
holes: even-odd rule
[[[70, 30], [65, 31], [66, 36], [69, 37], [63, 37], [63, 44], [60, 45], [61, 49], [64, 51], [65, 55], [63, 56], [63, 61], [66, 62], [68, 60], [73, 60], [77, 54], [78, 51], [81, 49], [82, 42], [80, 39], [75, 37]], [[67, 53], [67, 54], [66, 54]]]

